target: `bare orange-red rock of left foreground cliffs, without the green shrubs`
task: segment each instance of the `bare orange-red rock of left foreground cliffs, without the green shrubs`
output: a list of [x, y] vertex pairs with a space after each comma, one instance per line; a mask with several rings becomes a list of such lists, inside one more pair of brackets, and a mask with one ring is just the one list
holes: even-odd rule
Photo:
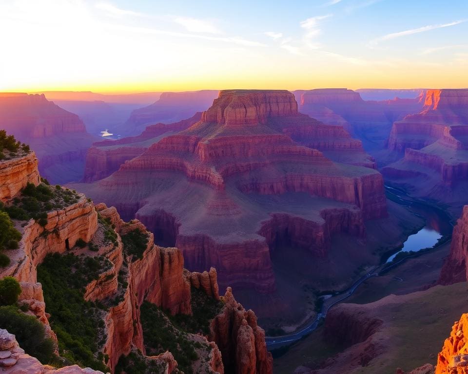
[[[18, 192], [12, 193], [17, 186], [26, 182], [39, 185], [39, 180], [31, 179], [31, 175], [39, 173], [35, 158], [31, 160], [30, 156], [25, 157], [24, 163], [32, 163], [36, 168], [32, 173], [23, 171], [22, 181], [19, 180], [20, 174], [16, 178], [8, 178], [7, 173], [13, 168], [0, 168], [5, 173], [2, 180], [7, 185], [1, 189], [1, 198], [7, 204], [19, 196]], [[3, 163], [12, 162], [0, 161], [0, 165]], [[254, 313], [243, 309], [230, 288], [225, 296], [219, 296], [214, 268], [202, 273], [185, 270], [181, 251], [156, 245], [153, 234], [139, 221], [126, 223], [120, 219], [116, 208], [108, 208], [104, 204], [95, 206], [86, 196], [78, 195], [77, 202], [48, 211], [46, 224], [40, 225], [34, 219], [20, 223], [17, 222], [16, 226], [22, 238], [17, 249], [8, 251], [11, 263], [0, 268], [0, 279], [10, 276], [20, 282], [19, 302], [27, 305], [27, 314], [36, 316], [44, 324], [47, 334], [56, 344], [58, 337], [52, 329], [54, 325], [49, 323], [51, 316], [44, 302], [48, 291], [37, 282], [38, 266], [51, 254], [73, 253], [107, 262], [98, 276], [85, 286], [83, 297], [84, 300], [103, 303], [116, 300], [101, 317], [105, 340], [99, 348], [101, 357], [106, 357], [106, 364], [112, 372], [121, 355], [137, 349], [141, 354], [146, 352], [145, 326], [140, 319], [143, 302], [156, 305], [169, 315], [187, 315], [190, 318], [191, 294], [193, 289], [199, 289], [205, 298], [218, 300], [222, 305], [219, 314], [208, 321], [210, 331], [206, 336], [188, 335], [189, 340], [203, 347], [200, 352], [204, 353], [199, 353], [205, 355], [203, 370], [207, 373], [272, 373], [272, 357], [266, 351], [265, 333], [257, 325]], [[137, 258], [127, 252], [122, 239], [135, 232], [146, 237], [145, 247]], [[88, 245], [78, 245], [80, 241]], [[124, 280], [120, 280], [121, 277]], [[8, 373], [100, 373], [89, 368], [82, 370], [76, 365], [58, 370], [43, 367], [37, 359], [24, 354], [14, 337], [5, 330], [1, 330], [0, 335], [0, 343], [8, 344], [6, 348], [11, 351], [7, 361], [3, 363], [3, 359], [0, 360], [0, 365], [5, 366]], [[174, 356], [169, 352], [145, 359], [161, 365], [161, 373], [173, 373], [177, 367]], [[202, 370], [197, 367], [197, 370]]]

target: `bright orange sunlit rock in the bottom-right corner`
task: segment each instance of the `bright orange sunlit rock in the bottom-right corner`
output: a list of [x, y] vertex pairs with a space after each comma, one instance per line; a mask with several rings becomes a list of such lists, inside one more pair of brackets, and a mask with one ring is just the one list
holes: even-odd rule
[[437, 357], [435, 374], [468, 374], [468, 314], [455, 321]]

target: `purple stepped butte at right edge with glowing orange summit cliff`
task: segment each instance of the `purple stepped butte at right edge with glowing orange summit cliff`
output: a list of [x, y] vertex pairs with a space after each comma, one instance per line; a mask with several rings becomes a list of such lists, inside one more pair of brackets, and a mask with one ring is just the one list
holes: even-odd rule
[[449, 205], [458, 217], [465, 204], [468, 90], [427, 90], [424, 108], [393, 124], [389, 150], [399, 160], [382, 168], [392, 186]]

